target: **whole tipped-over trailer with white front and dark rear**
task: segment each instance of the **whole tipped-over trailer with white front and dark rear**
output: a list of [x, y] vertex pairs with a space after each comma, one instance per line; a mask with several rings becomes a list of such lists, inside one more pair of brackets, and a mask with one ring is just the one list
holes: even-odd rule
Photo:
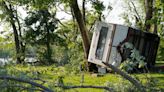
[[118, 67], [131, 53], [122, 48], [125, 42], [129, 42], [145, 57], [147, 66], [153, 67], [159, 40], [156, 34], [123, 25], [96, 22], [88, 61], [100, 66], [105, 62]]

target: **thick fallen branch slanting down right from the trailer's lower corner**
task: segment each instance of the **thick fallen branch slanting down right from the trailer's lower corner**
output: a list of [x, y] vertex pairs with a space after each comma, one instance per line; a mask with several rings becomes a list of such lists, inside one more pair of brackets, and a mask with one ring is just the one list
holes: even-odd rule
[[136, 86], [136, 88], [138, 88], [141, 92], [145, 92], [145, 89], [143, 88], [142, 84], [139, 83], [139, 81], [137, 81], [136, 79], [132, 78], [131, 76], [129, 76], [128, 74], [126, 74], [125, 72], [121, 71], [120, 69], [116, 68], [115, 66], [105, 63], [103, 62], [107, 67], [111, 68], [114, 72], [118, 73], [119, 75], [121, 75], [122, 77], [124, 77], [125, 79], [127, 79], [128, 81], [130, 81], [133, 85]]

